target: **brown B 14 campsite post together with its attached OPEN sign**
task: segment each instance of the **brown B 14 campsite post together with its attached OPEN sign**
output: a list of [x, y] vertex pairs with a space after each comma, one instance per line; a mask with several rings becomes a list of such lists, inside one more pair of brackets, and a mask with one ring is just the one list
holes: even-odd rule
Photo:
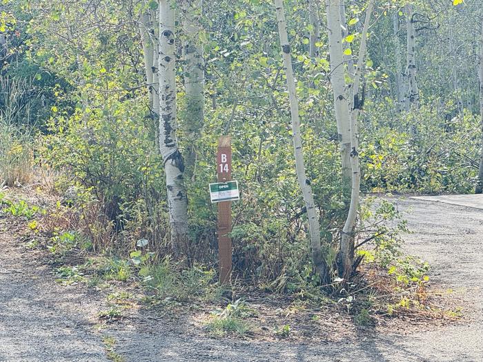
[[217, 152], [218, 183], [210, 183], [210, 199], [218, 203], [219, 281], [225, 283], [231, 275], [231, 201], [239, 200], [238, 181], [231, 180], [231, 137], [221, 136]]

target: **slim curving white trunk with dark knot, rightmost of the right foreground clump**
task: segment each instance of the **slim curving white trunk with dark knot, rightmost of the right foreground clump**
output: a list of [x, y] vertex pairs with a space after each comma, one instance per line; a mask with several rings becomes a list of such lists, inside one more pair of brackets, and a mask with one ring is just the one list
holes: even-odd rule
[[359, 112], [362, 110], [364, 104], [364, 94], [359, 97], [359, 82], [364, 68], [364, 57], [366, 56], [366, 38], [373, 12], [374, 1], [371, 0], [366, 10], [366, 19], [364, 21], [364, 28], [362, 30], [361, 45], [359, 46], [359, 56], [357, 57], [357, 66], [355, 68], [354, 83], [351, 92], [351, 171], [352, 171], [352, 192], [351, 192], [351, 206], [349, 208], [346, 223], [342, 230], [342, 238], [340, 244], [340, 265], [342, 270], [339, 271], [339, 276], [344, 279], [349, 279], [353, 272], [354, 262], [354, 229], [357, 217], [357, 210], [359, 209], [359, 193], [360, 193], [360, 163], [359, 163]]

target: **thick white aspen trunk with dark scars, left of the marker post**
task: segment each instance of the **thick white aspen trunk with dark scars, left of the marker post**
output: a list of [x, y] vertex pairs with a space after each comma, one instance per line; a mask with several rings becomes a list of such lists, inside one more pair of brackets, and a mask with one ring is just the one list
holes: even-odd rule
[[188, 239], [184, 159], [176, 138], [175, 0], [159, 1], [159, 149], [166, 172], [172, 250], [179, 257]]

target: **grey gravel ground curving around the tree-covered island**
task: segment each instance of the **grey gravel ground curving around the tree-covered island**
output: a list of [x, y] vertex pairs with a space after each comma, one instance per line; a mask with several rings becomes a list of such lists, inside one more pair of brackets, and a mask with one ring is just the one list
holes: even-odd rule
[[413, 231], [406, 250], [431, 264], [433, 285], [453, 290], [464, 322], [308, 343], [210, 338], [190, 328], [188, 314], [173, 320], [144, 310], [99, 328], [105, 300], [55, 283], [41, 253], [26, 250], [17, 226], [0, 217], [0, 361], [108, 361], [107, 336], [126, 361], [483, 361], [483, 210], [418, 199], [397, 205]]

